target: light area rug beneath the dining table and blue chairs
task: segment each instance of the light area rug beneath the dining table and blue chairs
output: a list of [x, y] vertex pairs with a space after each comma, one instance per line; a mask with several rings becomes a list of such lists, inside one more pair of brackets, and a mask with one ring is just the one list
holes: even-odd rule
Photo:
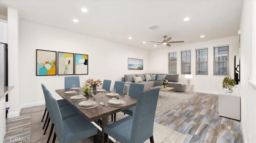
[[[48, 139], [48, 135], [50, 133], [50, 126], [46, 131], [46, 135], [43, 135], [44, 129], [42, 129], [42, 127], [44, 125], [44, 121], [41, 122], [43, 113], [44, 111], [42, 110], [38, 112], [33, 112], [31, 115], [31, 138], [30, 138], [31, 143], [46, 143]], [[122, 119], [126, 116], [128, 115], [124, 115], [122, 112], [118, 112], [116, 114], [116, 120]], [[111, 121], [110, 118], [109, 120]], [[155, 143], [182, 143], [185, 141], [187, 137], [186, 135], [179, 133], [178, 131], [174, 131], [173, 129], [170, 129], [158, 123], [154, 123], [153, 132], [154, 132], [153, 137], [154, 137]], [[50, 139], [50, 142], [52, 142], [52, 138]], [[55, 143], [58, 143], [57, 138]], [[89, 138], [86, 138], [86, 139], [77, 141], [76, 143], [92, 143], [92, 141]], [[145, 143], [150, 143], [150, 140], [148, 139]]]

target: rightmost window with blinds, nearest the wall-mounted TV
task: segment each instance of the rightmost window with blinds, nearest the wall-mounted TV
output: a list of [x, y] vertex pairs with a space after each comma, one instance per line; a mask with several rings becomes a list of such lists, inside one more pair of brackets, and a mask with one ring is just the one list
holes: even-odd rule
[[228, 75], [228, 55], [229, 46], [214, 47], [214, 63], [213, 63], [213, 75]]

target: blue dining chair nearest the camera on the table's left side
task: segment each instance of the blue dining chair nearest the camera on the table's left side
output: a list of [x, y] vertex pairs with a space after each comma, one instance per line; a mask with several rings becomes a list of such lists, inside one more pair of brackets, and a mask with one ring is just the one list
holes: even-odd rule
[[80, 115], [73, 116], [62, 120], [62, 115], [58, 103], [55, 98], [48, 93], [50, 97], [50, 106], [54, 118], [54, 136], [52, 142], [54, 143], [56, 137], [59, 143], [74, 143], [81, 139], [93, 136], [94, 142], [97, 138], [97, 128], [89, 121]]

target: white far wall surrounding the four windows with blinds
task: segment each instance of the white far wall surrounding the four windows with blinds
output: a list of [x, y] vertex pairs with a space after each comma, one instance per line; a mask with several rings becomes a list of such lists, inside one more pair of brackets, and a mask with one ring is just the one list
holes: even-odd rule
[[[213, 76], [213, 47], [219, 45], [229, 45], [229, 68], [231, 75], [234, 73], [234, 55], [238, 55], [239, 42], [238, 36], [215, 39], [210, 41], [179, 45], [172, 44], [171, 47], [160, 45], [161, 48], [150, 51], [150, 72], [152, 73], [168, 73], [168, 52], [177, 52], [177, 74], [179, 74], [180, 82], [187, 82], [184, 74], [181, 74], [181, 51], [191, 51], [191, 74], [193, 78], [190, 80], [194, 84], [195, 92], [218, 94], [222, 90], [222, 81], [224, 76]], [[164, 46], [165, 48], [162, 48]], [[196, 50], [208, 47], [208, 75], [196, 74]]]

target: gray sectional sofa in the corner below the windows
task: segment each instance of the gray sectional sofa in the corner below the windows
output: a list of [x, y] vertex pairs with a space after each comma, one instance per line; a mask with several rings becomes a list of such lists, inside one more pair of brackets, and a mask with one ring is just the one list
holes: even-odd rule
[[150, 87], [161, 86], [162, 76], [164, 75], [166, 75], [165, 79], [168, 80], [168, 87], [173, 87], [174, 90], [178, 92], [185, 90], [185, 84], [183, 82], [178, 82], [179, 74], [150, 74], [151, 81], [146, 81], [145, 74], [125, 74], [124, 77], [122, 77], [122, 81], [126, 82], [124, 87], [124, 94], [129, 92], [130, 84], [128, 83], [134, 82], [133, 77], [140, 76], [142, 78], [142, 82], [137, 83], [144, 84], [144, 90], [146, 90]]

